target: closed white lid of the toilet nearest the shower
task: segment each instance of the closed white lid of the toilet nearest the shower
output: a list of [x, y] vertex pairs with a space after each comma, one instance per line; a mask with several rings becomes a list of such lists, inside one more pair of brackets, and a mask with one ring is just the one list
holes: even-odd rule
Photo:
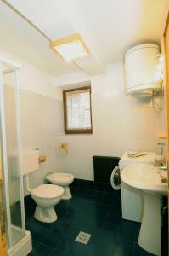
[[64, 193], [64, 189], [58, 185], [42, 184], [31, 191], [31, 195], [42, 198], [54, 198]]

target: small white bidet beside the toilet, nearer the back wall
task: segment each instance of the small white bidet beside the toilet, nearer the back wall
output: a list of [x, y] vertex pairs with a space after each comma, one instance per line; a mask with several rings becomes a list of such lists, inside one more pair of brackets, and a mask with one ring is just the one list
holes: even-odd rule
[[54, 172], [49, 174], [46, 179], [54, 184], [59, 185], [64, 188], [64, 194], [62, 195], [62, 199], [68, 200], [72, 197], [70, 193], [69, 185], [73, 182], [74, 176], [70, 173], [63, 172]]

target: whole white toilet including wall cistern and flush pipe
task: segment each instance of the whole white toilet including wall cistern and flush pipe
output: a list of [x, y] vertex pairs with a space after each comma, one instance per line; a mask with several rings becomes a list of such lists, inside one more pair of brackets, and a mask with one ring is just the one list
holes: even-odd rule
[[42, 184], [35, 189], [30, 188], [29, 175], [39, 169], [39, 152], [37, 150], [23, 154], [22, 172], [25, 176], [26, 189], [37, 203], [34, 217], [45, 223], [57, 220], [54, 206], [59, 203], [64, 194], [64, 189], [52, 184]]

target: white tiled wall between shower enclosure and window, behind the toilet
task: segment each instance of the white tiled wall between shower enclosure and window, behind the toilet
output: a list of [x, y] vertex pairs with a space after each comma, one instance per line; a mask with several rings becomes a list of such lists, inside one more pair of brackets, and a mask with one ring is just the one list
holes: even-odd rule
[[31, 91], [20, 90], [20, 119], [22, 148], [25, 151], [39, 148], [47, 161], [30, 175], [31, 189], [44, 182], [48, 172], [55, 172], [57, 166], [57, 141], [62, 132], [60, 101], [41, 96]]

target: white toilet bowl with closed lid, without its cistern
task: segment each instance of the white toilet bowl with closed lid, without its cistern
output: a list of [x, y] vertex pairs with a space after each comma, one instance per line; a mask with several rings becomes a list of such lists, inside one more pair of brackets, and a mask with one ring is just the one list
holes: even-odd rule
[[31, 190], [31, 197], [36, 202], [37, 207], [34, 217], [46, 223], [54, 222], [58, 219], [54, 206], [59, 203], [64, 193], [64, 189], [57, 185], [42, 184]]

